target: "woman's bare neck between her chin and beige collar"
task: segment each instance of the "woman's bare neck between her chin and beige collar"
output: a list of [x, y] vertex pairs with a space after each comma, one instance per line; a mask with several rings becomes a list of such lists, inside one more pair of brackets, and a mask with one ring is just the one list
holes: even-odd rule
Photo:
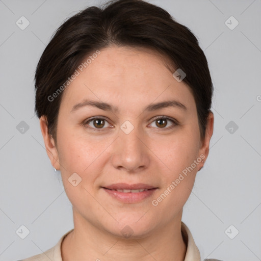
[[[182, 213], [181, 213], [182, 214]], [[62, 242], [63, 261], [184, 261], [187, 245], [181, 234], [181, 216], [147, 236], [126, 239], [93, 226], [74, 213], [74, 230]]]

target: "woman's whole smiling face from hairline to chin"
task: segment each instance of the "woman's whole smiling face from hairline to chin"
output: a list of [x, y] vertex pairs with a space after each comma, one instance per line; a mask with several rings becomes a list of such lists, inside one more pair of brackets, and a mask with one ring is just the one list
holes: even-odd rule
[[76, 222], [144, 236], [181, 219], [212, 135], [200, 142], [189, 87], [155, 54], [126, 47], [102, 49], [79, 72], [64, 90], [51, 150]]

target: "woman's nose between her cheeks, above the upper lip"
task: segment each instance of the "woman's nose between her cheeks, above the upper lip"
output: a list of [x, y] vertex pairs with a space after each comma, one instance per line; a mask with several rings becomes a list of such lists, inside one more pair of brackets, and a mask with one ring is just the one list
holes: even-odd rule
[[119, 129], [119, 137], [112, 145], [111, 161], [114, 168], [137, 173], [149, 166], [150, 153], [146, 137], [138, 128], [134, 127], [128, 134]]

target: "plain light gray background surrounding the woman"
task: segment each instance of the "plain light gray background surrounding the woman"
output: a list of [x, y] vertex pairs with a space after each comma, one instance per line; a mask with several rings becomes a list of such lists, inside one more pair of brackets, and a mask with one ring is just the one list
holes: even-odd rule
[[[182, 220], [202, 259], [261, 260], [261, 1], [149, 2], [197, 36], [215, 88], [210, 155], [197, 174]], [[34, 115], [33, 77], [64, 19], [99, 3], [104, 2], [0, 1], [0, 260], [42, 253], [73, 228], [71, 203]], [[21, 16], [30, 21], [24, 30], [16, 25]], [[230, 16], [239, 21], [233, 30], [225, 23]], [[21, 121], [29, 125], [23, 133]], [[233, 125], [227, 125], [230, 121]], [[21, 225], [30, 230], [23, 240], [16, 234]], [[233, 239], [225, 233], [230, 225], [230, 237], [239, 230]]]

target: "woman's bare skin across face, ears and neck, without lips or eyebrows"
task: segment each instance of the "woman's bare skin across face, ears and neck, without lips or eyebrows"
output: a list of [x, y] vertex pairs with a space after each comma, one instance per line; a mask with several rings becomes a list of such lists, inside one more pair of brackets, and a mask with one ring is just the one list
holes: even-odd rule
[[[188, 172], [157, 206], [151, 202], [200, 155], [206, 161], [214, 116], [210, 113], [201, 141], [191, 89], [177, 82], [172, 73], [155, 53], [116, 46], [102, 49], [64, 90], [57, 144], [48, 135], [45, 117], [40, 118], [47, 154], [51, 164], [61, 170], [73, 206], [74, 230], [61, 246], [64, 261], [184, 260], [187, 246], [180, 231], [182, 208], [203, 163]], [[119, 110], [87, 106], [70, 112], [85, 98], [110, 103]], [[171, 99], [187, 110], [144, 111], [151, 103]], [[106, 118], [103, 125], [99, 123], [101, 129], [94, 121], [86, 123], [94, 116]], [[163, 126], [156, 124], [156, 116], [174, 118], [179, 124], [170, 120], [161, 123]], [[134, 126], [129, 134], [120, 128], [126, 120]], [[75, 172], [82, 178], [76, 187], [68, 181]], [[158, 189], [140, 202], [123, 203], [101, 188], [118, 182]], [[126, 225], [133, 231], [129, 238], [121, 233]]]

